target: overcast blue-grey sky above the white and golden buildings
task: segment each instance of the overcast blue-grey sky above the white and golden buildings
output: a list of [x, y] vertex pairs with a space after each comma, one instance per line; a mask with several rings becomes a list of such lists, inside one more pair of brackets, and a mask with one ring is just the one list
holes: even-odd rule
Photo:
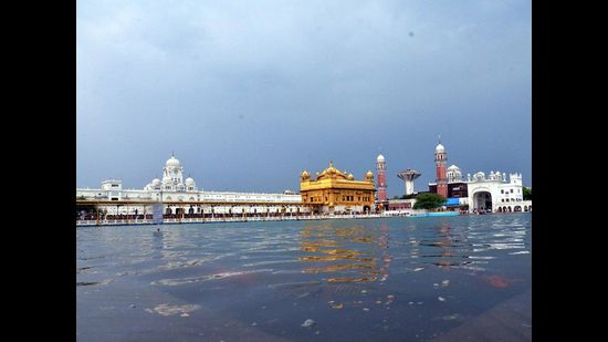
[[300, 190], [329, 160], [532, 186], [530, 0], [76, 2], [76, 187]]

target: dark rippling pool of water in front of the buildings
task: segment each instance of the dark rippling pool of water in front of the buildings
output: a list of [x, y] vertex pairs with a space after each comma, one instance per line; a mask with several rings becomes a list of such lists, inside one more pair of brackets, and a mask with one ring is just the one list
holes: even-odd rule
[[526, 341], [531, 219], [78, 228], [76, 338]]

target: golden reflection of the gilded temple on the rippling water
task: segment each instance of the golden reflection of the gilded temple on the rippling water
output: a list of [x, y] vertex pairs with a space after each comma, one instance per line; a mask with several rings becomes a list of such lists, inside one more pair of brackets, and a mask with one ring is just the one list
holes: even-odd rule
[[327, 282], [384, 281], [391, 258], [388, 226], [305, 226], [301, 232], [300, 261], [311, 262], [303, 272], [331, 273]]

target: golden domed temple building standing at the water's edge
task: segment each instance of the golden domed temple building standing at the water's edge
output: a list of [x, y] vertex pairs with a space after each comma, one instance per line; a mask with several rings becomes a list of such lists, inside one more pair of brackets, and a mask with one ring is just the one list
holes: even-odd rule
[[374, 174], [367, 172], [364, 180], [355, 180], [353, 174], [329, 167], [311, 179], [307, 170], [301, 175], [302, 204], [313, 213], [369, 213], [374, 208]]

